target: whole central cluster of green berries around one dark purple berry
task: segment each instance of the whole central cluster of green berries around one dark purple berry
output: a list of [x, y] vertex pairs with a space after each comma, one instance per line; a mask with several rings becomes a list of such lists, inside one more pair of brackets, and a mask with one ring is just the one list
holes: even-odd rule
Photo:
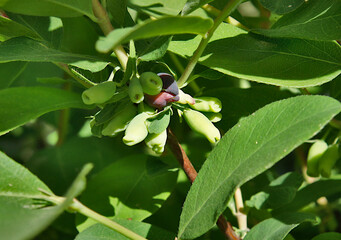
[[90, 122], [95, 135], [115, 136], [124, 131], [126, 145], [145, 141], [147, 147], [161, 154], [167, 140], [168, 116], [174, 106], [192, 130], [213, 144], [220, 140], [213, 123], [221, 119], [221, 102], [213, 97], [193, 98], [179, 89], [172, 75], [144, 72], [139, 78], [133, 76], [126, 87], [127, 97], [117, 101], [113, 100], [118, 94], [116, 88], [115, 82], [106, 81], [82, 94], [85, 104], [102, 108]]

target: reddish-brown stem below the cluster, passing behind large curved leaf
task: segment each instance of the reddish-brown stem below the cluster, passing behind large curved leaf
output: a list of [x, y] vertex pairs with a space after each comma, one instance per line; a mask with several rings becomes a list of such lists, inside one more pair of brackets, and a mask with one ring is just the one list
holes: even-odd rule
[[[191, 183], [194, 182], [195, 178], [197, 177], [198, 173], [194, 169], [191, 161], [189, 160], [186, 152], [181, 147], [178, 139], [173, 134], [173, 132], [168, 129], [168, 138], [167, 138], [168, 146], [170, 147], [171, 151], [173, 152], [174, 156], [180, 163], [182, 169], [185, 171], [188, 179]], [[217, 225], [219, 229], [223, 232], [226, 239], [229, 240], [240, 240], [239, 237], [233, 231], [231, 224], [225, 219], [223, 215], [220, 215], [217, 221]]]

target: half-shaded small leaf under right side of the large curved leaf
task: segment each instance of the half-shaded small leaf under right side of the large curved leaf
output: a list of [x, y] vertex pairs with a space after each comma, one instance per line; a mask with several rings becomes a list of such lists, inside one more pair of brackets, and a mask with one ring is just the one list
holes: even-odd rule
[[279, 208], [294, 199], [302, 182], [302, 176], [295, 172], [283, 174], [263, 191], [253, 195], [249, 201], [246, 201], [246, 205], [257, 209]]

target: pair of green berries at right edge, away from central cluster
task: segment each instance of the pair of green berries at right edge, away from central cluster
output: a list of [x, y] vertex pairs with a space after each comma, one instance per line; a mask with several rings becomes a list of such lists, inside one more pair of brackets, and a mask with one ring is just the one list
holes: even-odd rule
[[323, 140], [316, 140], [310, 147], [307, 157], [307, 174], [311, 177], [330, 177], [339, 158], [339, 145], [329, 145]]

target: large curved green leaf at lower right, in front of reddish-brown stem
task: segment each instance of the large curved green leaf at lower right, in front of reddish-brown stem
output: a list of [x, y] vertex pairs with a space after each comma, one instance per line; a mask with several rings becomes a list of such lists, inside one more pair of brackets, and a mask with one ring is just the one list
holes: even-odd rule
[[271, 103], [242, 119], [208, 156], [180, 218], [180, 239], [213, 227], [235, 189], [270, 168], [316, 134], [341, 104], [324, 96], [299, 96]]

